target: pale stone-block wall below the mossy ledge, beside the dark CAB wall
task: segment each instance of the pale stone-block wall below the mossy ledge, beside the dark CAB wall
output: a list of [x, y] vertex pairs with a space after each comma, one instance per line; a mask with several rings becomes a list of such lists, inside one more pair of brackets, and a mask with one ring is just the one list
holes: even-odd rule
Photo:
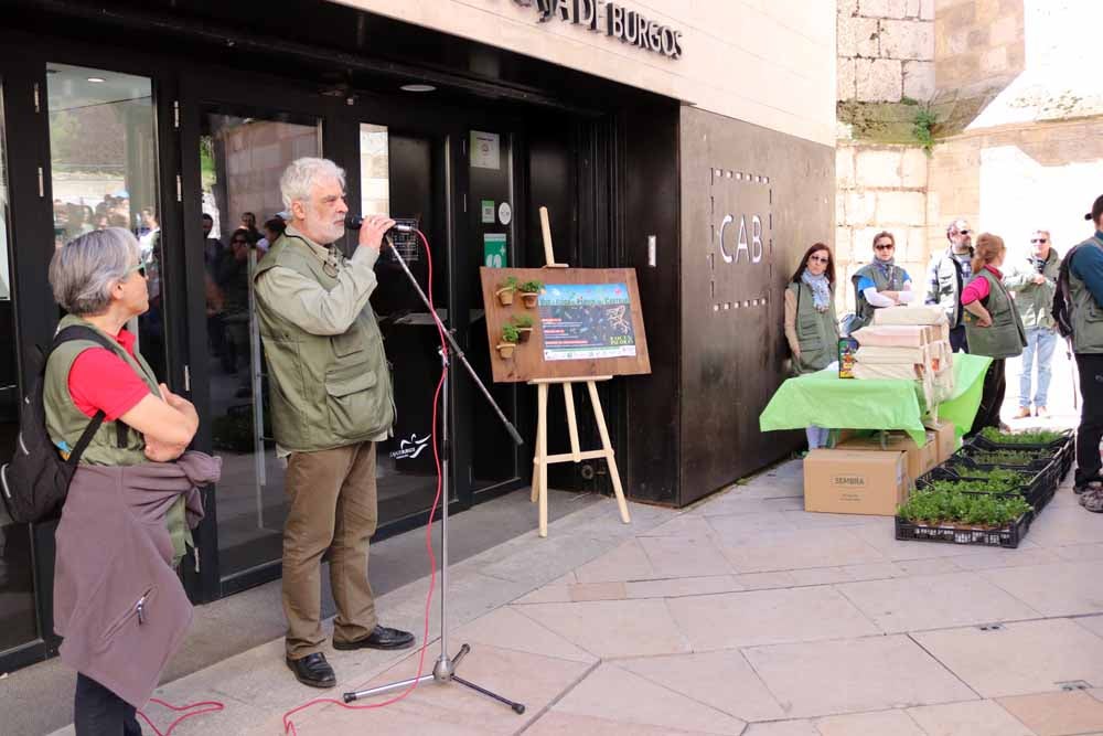
[[850, 277], [872, 258], [874, 236], [892, 233], [897, 264], [922, 289], [928, 257], [928, 158], [912, 146], [839, 141], [835, 149], [836, 309], [854, 309]]

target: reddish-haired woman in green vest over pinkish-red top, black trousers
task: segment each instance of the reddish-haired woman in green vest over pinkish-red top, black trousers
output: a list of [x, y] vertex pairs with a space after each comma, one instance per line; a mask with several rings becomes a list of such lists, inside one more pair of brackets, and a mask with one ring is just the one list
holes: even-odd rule
[[973, 252], [973, 278], [962, 289], [968, 351], [992, 359], [988, 372], [984, 374], [981, 406], [966, 437], [985, 427], [999, 427], [999, 409], [1007, 388], [1004, 360], [1020, 355], [1027, 344], [1022, 319], [999, 270], [1006, 255], [1002, 237], [982, 233]]

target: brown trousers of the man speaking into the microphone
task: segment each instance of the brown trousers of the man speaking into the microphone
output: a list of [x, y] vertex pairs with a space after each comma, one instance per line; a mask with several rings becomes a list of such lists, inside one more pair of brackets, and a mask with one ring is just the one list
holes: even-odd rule
[[338, 616], [333, 639], [363, 639], [376, 625], [367, 580], [367, 546], [378, 521], [375, 444], [292, 452], [288, 458], [283, 523], [283, 614], [287, 654], [321, 651], [321, 561], [330, 550], [330, 585]]

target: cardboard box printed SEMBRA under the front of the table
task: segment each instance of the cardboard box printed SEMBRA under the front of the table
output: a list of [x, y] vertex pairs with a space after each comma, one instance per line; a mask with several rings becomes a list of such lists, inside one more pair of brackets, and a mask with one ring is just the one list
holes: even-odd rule
[[908, 500], [903, 452], [812, 450], [804, 458], [804, 510], [892, 516]]

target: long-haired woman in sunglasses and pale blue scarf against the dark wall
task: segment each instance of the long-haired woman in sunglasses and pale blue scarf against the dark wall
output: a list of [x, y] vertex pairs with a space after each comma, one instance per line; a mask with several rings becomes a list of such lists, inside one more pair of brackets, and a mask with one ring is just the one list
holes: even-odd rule
[[[796, 375], [822, 371], [838, 359], [835, 260], [823, 243], [807, 249], [785, 289], [785, 339]], [[808, 427], [808, 449], [823, 447], [827, 431]]]

